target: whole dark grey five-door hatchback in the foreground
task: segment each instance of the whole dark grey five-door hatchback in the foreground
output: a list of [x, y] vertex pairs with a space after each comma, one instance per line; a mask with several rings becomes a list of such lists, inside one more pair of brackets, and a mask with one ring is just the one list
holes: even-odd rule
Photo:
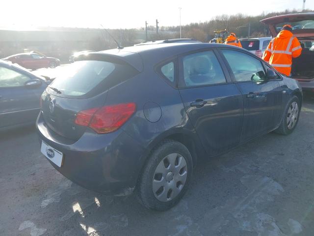
[[41, 151], [72, 181], [157, 210], [203, 157], [298, 122], [302, 90], [246, 50], [159, 44], [80, 56], [41, 98]]

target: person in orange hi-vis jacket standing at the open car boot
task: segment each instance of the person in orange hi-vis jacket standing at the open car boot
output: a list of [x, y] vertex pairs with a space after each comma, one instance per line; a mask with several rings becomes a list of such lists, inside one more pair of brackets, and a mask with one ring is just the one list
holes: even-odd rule
[[290, 76], [292, 58], [299, 57], [301, 52], [302, 47], [299, 40], [293, 36], [292, 27], [285, 25], [277, 37], [270, 41], [263, 59], [280, 73]]

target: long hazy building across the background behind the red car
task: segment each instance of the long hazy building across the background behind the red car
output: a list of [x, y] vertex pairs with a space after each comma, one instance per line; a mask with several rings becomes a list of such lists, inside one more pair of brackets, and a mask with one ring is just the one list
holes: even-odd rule
[[[122, 44], [131, 46], [145, 41], [145, 31], [110, 29], [109, 32]], [[149, 40], [155, 31], [148, 32]], [[173, 32], [160, 32], [171, 38]], [[13, 54], [38, 51], [46, 56], [67, 60], [74, 52], [101, 51], [117, 45], [104, 29], [45, 27], [30, 29], [0, 28], [0, 58]]]

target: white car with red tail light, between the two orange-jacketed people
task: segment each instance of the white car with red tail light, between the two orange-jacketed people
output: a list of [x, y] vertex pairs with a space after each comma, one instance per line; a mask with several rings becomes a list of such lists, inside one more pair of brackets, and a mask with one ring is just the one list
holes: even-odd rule
[[245, 38], [239, 40], [242, 44], [242, 48], [262, 58], [271, 39], [272, 37], [262, 37], [262, 38]]

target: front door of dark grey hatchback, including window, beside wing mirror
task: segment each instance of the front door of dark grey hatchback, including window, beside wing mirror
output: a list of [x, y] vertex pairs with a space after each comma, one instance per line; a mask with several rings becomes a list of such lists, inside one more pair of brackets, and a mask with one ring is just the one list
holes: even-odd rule
[[231, 49], [220, 52], [243, 96], [242, 140], [274, 129], [282, 118], [282, 89], [278, 80], [266, 80], [262, 61], [249, 53]]

